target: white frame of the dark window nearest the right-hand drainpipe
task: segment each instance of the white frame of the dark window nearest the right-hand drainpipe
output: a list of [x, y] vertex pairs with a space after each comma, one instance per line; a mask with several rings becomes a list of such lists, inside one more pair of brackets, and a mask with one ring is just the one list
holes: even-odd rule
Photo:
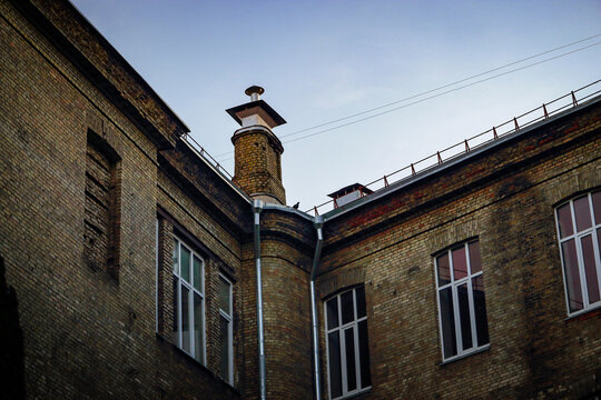
[[[327, 384], [328, 384], [328, 396], [329, 396], [329, 399], [331, 400], [338, 400], [338, 399], [346, 399], [346, 398], [349, 398], [349, 397], [354, 397], [354, 396], [357, 396], [357, 394], [361, 394], [361, 393], [364, 393], [364, 392], [367, 392], [372, 389], [372, 384], [367, 386], [367, 387], [362, 387], [362, 377], [361, 377], [361, 356], [359, 356], [359, 338], [358, 338], [358, 324], [359, 322], [363, 322], [363, 321], [367, 321], [367, 310], [365, 310], [365, 316], [364, 317], [359, 317], [357, 318], [358, 316], [358, 312], [357, 312], [357, 294], [356, 294], [356, 290], [358, 288], [362, 288], [363, 286], [355, 286], [355, 287], [352, 287], [352, 288], [347, 288], [343, 291], [339, 291], [337, 292], [336, 294], [334, 296], [331, 296], [329, 298], [327, 298], [325, 301], [324, 301], [324, 317], [325, 317], [325, 323], [324, 323], [324, 327], [325, 327], [325, 343], [326, 343], [326, 366], [327, 366]], [[364, 287], [363, 287], [364, 288]], [[364, 289], [365, 290], [365, 289]], [[347, 293], [352, 291], [353, 292], [353, 320], [346, 322], [346, 323], [342, 323], [343, 322], [343, 317], [342, 317], [342, 296], [344, 293]], [[327, 303], [329, 301], [332, 301], [332, 299], [336, 299], [336, 303], [337, 303], [337, 310], [338, 310], [338, 326], [335, 327], [335, 328], [332, 328], [329, 329], [329, 326], [328, 326], [328, 311], [327, 311]], [[345, 334], [344, 332], [348, 329], [353, 329], [353, 348], [354, 348], [354, 352], [355, 352], [355, 379], [356, 379], [356, 389], [353, 389], [353, 390], [347, 390], [347, 387], [348, 387], [348, 377], [347, 377], [347, 371], [346, 371], [346, 338], [345, 338]], [[338, 340], [339, 340], [339, 360], [341, 360], [341, 390], [342, 390], [342, 394], [338, 396], [338, 397], [333, 397], [332, 396], [332, 376], [331, 376], [331, 362], [329, 362], [329, 340], [328, 340], [328, 336], [329, 333], [332, 332], [335, 332], [335, 331], [338, 331], [339, 334], [338, 334]], [[368, 336], [367, 336], [367, 342], [368, 342]], [[370, 364], [367, 366], [367, 368], [370, 369]], [[371, 373], [370, 373], [371, 374]]]

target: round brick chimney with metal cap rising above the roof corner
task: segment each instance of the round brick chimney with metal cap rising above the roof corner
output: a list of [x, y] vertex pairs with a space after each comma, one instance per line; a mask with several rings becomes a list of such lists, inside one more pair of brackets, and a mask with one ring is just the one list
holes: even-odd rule
[[234, 132], [234, 180], [254, 199], [286, 203], [282, 184], [284, 147], [272, 129], [286, 123], [269, 104], [260, 99], [265, 90], [252, 86], [245, 90], [250, 101], [227, 111], [242, 128]]

